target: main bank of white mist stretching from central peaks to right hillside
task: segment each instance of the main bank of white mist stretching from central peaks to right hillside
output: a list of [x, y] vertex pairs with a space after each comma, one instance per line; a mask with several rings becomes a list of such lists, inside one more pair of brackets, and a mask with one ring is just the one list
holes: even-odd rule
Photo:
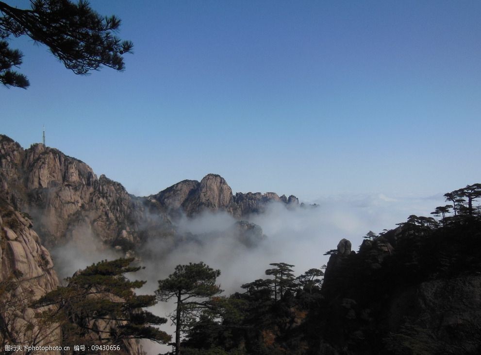
[[[365, 234], [397, 227], [411, 214], [429, 215], [437, 197], [394, 199], [385, 195], [337, 196], [317, 200], [317, 205], [289, 208], [270, 203], [264, 213], [245, 220], [262, 228], [265, 238], [246, 246], [229, 229], [236, 220], [227, 213], [204, 212], [177, 221], [182, 242], [151, 238], [144, 247], [142, 263], [149, 280], [170, 274], [176, 265], [203, 261], [221, 270], [219, 283], [227, 293], [239, 291], [244, 283], [264, 277], [269, 263], [295, 265], [296, 274], [327, 264], [326, 251], [342, 238], [357, 251]], [[441, 200], [441, 199], [440, 199]], [[441, 200], [442, 201], [442, 200]], [[441, 202], [439, 201], [439, 203]], [[187, 237], [185, 237], [187, 236]], [[151, 256], [156, 257], [152, 258]], [[161, 256], [161, 257], [158, 257]]]

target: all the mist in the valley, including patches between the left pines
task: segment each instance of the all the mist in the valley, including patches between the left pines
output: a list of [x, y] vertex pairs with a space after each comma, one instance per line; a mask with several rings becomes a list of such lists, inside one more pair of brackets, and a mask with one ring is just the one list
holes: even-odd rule
[[[386, 195], [337, 195], [296, 207], [269, 203], [263, 213], [244, 218], [262, 228], [263, 236], [249, 243], [232, 228], [237, 220], [225, 212], [203, 212], [194, 218], [182, 216], [174, 223], [176, 236], [150, 237], [139, 249], [137, 259], [145, 269], [129, 277], [147, 281], [137, 293], [153, 294], [157, 281], [166, 278], [177, 265], [203, 261], [221, 270], [217, 281], [224, 295], [229, 295], [243, 291], [241, 285], [245, 283], [266, 278], [269, 263], [295, 265], [296, 276], [310, 268], [321, 268], [329, 258], [323, 254], [336, 249], [340, 239], [349, 239], [357, 251], [368, 231], [379, 233], [395, 228], [396, 223], [411, 214], [429, 215], [443, 200], [442, 196], [401, 199]], [[72, 228], [71, 236], [66, 244], [52, 250], [61, 277], [71, 276], [102, 259], [123, 256], [106, 248], [86, 223]], [[149, 308], [167, 319], [174, 309], [174, 303]], [[161, 329], [173, 334], [170, 320]], [[143, 341], [143, 345], [148, 354], [170, 350], [150, 341]]]

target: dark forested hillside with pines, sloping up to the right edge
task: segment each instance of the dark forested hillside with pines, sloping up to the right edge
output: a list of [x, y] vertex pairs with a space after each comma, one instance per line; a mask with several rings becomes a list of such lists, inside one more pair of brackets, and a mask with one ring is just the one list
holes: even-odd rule
[[[481, 185], [453, 204], [343, 239], [324, 272], [282, 262], [244, 291], [213, 297], [185, 330], [182, 354], [479, 354]], [[322, 286], [321, 286], [322, 284]]]

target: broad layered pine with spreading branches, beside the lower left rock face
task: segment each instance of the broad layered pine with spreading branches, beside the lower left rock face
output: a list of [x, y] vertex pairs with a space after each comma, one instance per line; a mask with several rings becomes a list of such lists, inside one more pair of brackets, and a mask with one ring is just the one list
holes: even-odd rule
[[149, 339], [167, 343], [171, 337], [154, 327], [165, 318], [142, 309], [156, 304], [154, 295], [136, 295], [145, 281], [129, 281], [133, 258], [101, 261], [67, 278], [68, 285], [41, 297], [34, 306], [56, 307], [42, 314], [45, 322], [60, 324], [64, 342], [116, 345], [123, 340]]

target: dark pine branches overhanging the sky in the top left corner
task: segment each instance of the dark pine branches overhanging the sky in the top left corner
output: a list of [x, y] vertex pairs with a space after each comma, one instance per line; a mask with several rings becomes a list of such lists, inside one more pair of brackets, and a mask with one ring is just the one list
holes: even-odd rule
[[67, 69], [87, 74], [102, 65], [124, 70], [122, 54], [131, 53], [133, 43], [112, 33], [120, 26], [115, 16], [101, 17], [88, 1], [30, 0], [31, 10], [17, 9], [0, 1], [0, 83], [27, 88], [24, 74], [12, 70], [22, 63], [23, 54], [10, 49], [6, 39], [27, 35], [49, 47]]

